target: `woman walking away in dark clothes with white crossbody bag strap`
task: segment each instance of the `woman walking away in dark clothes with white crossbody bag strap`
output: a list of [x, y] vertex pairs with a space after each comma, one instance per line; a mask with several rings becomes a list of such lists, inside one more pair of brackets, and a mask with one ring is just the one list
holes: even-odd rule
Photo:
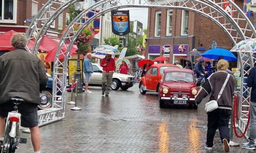
[[[226, 153], [229, 152], [229, 118], [232, 112], [232, 99], [235, 92], [234, 77], [228, 74], [225, 70], [229, 67], [229, 63], [221, 59], [218, 61], [218, 72], [211, 74], [206, 79], [205, 84], [199, 90], [196, 96], [196, 103], [199, 104], [211, 93], [210, 99], [218, 103], [218, 108], [214, 111], [207, 112], [207, 138], [205, 149], [212, 150], [214, 135], [216, 130], [219, 130], [220, 140], [223, 143]], [[226, 82], [226, 85], [225, 85]], [[221, 94], [221, 91], [222, 94]], [[220, 96], [218, 96], [220, 94]]]

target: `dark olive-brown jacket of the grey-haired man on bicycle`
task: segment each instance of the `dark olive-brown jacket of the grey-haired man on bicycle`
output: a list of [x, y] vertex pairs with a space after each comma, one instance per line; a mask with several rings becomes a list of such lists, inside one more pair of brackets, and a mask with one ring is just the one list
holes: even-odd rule
[[0, 103], [19, 97], [39, 105], [47, 80], [42, 61], [23, 47], [0, 57]]

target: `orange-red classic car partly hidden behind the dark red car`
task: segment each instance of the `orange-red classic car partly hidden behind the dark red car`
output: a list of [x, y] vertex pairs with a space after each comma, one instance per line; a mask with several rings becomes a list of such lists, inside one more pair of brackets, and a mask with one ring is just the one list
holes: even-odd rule
[[140, 94], [146, 94], [147, 91], [158, 92], [159, 83], [165, 69], [178, 69], [173, 64], [154, 64], [149, 67], [145, 77], [139, 81]]

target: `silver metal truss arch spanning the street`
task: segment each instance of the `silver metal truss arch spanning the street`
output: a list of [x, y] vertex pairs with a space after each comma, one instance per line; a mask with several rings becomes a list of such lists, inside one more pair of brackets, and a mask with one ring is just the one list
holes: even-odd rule
[[[49, 13], [51, 12], [50, 7], [52, 4], [56, 3], [56, 1], [57, 0], [49, 0], [47, 4], [45, 4], [45, 6], [39, 11], [41, 14], [38, 12], [38, 15], [32, 21], [31, 26], [29, 26], [29, 29], [31, 30], [29, 30], [26, 33], [29, 39], [32, 39], [31, 35], [34, 31], [37, 31], [38, 33], [38, 36], [33, 37], [34, 39], [36, 39], [35, 45], [33, 46], [33, 50], [38, 50], [40, 39], [42, 39], [42, 36], [45, 34], [51, 23], [58, 17], [60, 13], [62, 13], [62, 10], [64, 10], [68, 6], [71, 6], [74, 2], [77, 2], [78, 0], [69, 0], [66, 3], [60, 3], [60, 8], [58, 8], [56, 12], [54, 12], [51, 15], [51, 13]], [[233, 7], [233, 10], [230, 12], [225, 11], [223, 9], [223, 4], [225, 3], [229, 3], [230, 7]], [[103, 7], [104, 4], [108, 4], [110, 7], [105, 9]], [[246, 17], [243, 11], [232, 0], [227, 0], [227, 2], [224, 2], [223, 0], [100, 0], [96, 4], [93, 4], [91, 7], [82, 11], [69, 24], [69, 26], [67, 26], [66, 31], [63, 33], [60, 39], [53, 67], [53, 87], [55, 88], [53, 88], [52, 108], [44, 110], [44, 116], [48, 116], [49, 120], [45, 117], [42, 117], [42, 124], [45, 125], [49, 122], [54, 122], [55, 120], [65, 118], [65, 92], [62, 92], [61, 101], [58, 100], [59, 96], [57, 96], [56, 93], [58, 91], [66, 90], [65, 82], [67, 75], [66, 70], [67, 61], [69, 57], [69, 50], [71, 49], [71, 46], [74, 44], [76, 37], [78, 37], [82, 29], [85, 28], [96, 17], [114, 9], [121, 9], [127, 7], [182, 9], [200, 13], [201, 15], [209, 18], [218, 26], [220, 26], [220, 28], [222, 28], [223, 31], [227, 33], [229, 38], [232, 40], [233, 44], [240, 42], [240, 40], [252, 39], [256, 37], [256, 31], [252, 23], [249, 21], [249, 19]], [[100, 11], [96, 12], [95, 9], [99, 9]], [[45, 26], [43, 26], [42, 29], [36, 28], [38, 23], [35, 21], [45, 20], [45, 18], [42, 18], [42, 14], [47, 12], [50, 14], [50, 16], [47, 18]], [[86, 13], [89, 12], [94, 12], [95, 15], [88, 19], [84, 24], [80, 23], [80, 19], [84, 17]], [[232, 13], [234, 13], [234, 16], [230, 15]], [[75, 31], [73, 28], [76, 24], [80, 24], [80, 28], [78, 29], [78, 31]], [[70, 42], [69, 45], [66, 45], [67, 41]], [[61, 50], [61, 48], [63, 47], [67, 48], [67, 52], [63, 52]], [[62, 54], [65, 54], [64, 61], [59, 60], [59, 56]], [[249, 57], [249, 59], [247, 61], [243, 61], [244, 56]], [[240, 52], [240, 54], [238, 54], [238, 59], [241, 66], [243, 66], [244, 62], [249, 63], [251, 66], [253, 65], [253, 57], [251, 53]], [[241, 69], [241, 73], [243, 76], [243, 74], [246, 72], [244, 72], [243, 67]], [[60, 73], [61, 71], [62, 73]], [[59, 76], [62, 76], [62, 79], [59, 79]], [[57, 87], [57, 83], [62, 84], [61, 89]], [[243, 81], [241, 81], [241, 88], [243, 86]], [[243, 96], [243, 88], [240, 90], [240, 96]], [[243, 111], [243, 108], [248, 108], [248, 106], [249, 102], [245, 101], [244, 98], [240, 98], [239, 117], [241, 122], [239, 122], [239, 128], [241, 131], [245, 129], [245, 124], [248, 119], [248, 113], [246, 111]], [[60, 118], [58, 118], [59, 114], [62, 115], [60, 115]]]

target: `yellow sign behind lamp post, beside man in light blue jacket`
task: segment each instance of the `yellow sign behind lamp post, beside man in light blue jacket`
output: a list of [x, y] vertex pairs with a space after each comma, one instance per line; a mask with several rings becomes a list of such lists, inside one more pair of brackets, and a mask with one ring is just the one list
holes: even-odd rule
[[[75, 76], [76, 74], [76, 68], [77, 68], [77, 60], [69, 60], [69, 84], [72, 83], [72, 76]], [[81, 68], [81, 78], [82, 78], [82, 83], [84, 82], [83, 80], [83, 61], [80, 60], [80, 68]]]

